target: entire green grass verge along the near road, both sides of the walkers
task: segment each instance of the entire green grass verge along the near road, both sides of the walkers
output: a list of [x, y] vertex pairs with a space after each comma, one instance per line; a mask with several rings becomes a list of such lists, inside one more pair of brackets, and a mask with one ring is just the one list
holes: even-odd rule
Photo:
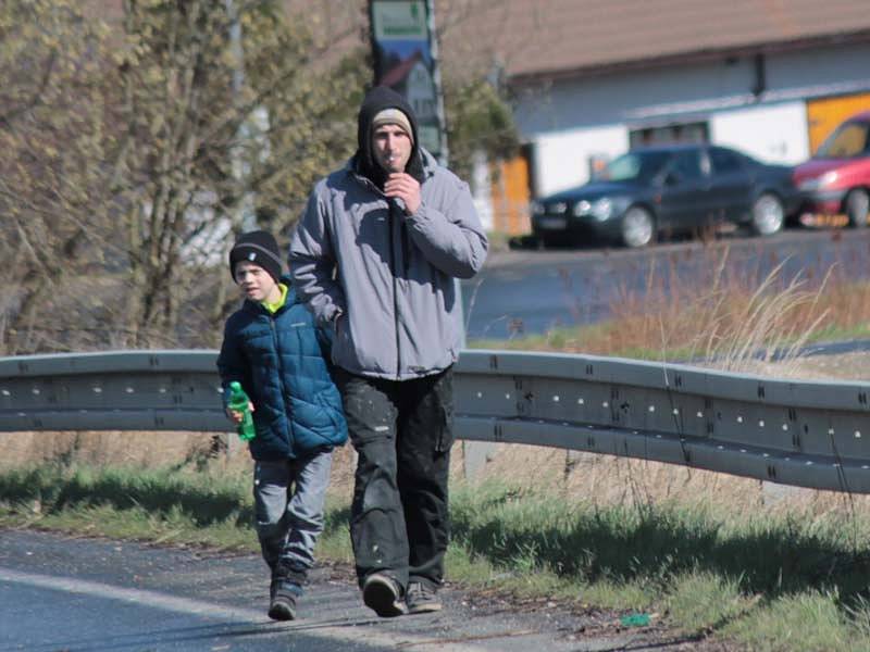
[[[0, 526], [256, 553], [250, 478], [45, 464], [0, 474]], [[870, 649], [870, 527], [842, 514], [596, 506], [505, 482], [452, 488], [448, 578], [473, 589], [658, 614], [753, 650]], [[327, 501], [318, 556], [352, 561]]]

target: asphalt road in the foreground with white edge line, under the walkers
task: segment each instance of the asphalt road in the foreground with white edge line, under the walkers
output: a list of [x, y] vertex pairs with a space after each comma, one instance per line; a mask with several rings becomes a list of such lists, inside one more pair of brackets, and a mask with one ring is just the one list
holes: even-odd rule
[[450, 587], [444, 612], [377, 618], [347, 569], [319, 569], [289, 624], [265, 616], [266, 593], [253, 555], [0, 530], [0, 652], [700, 649], [661, 628], [621, 628], [618, 614]]

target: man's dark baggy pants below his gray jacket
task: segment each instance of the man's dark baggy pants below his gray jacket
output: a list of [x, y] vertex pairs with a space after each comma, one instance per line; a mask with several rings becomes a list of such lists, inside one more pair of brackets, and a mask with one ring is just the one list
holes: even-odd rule
[[360, 586], [383, 573], [401, 587], [444, 578], [452, 369], [411, 380], [337, 374], [357, 450], [350, 537]]

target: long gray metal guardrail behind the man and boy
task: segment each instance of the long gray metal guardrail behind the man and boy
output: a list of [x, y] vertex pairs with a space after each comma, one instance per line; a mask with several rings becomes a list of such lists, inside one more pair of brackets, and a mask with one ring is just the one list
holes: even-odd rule
[[[0, 431], [229, 429], [215, 351], [0, 358]], [[870, 493], [870, 384], [591, 355], [464, 351], [464, 440], [682, 464]]]

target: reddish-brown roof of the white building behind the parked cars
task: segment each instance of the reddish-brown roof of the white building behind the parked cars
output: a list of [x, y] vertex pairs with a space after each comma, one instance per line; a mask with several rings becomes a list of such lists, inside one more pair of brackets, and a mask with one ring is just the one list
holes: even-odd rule
[[486, 43], [521, 83], [870, 40], [868, 9], [868, 0], [467, 0], [468, 20], [445, 40]]

